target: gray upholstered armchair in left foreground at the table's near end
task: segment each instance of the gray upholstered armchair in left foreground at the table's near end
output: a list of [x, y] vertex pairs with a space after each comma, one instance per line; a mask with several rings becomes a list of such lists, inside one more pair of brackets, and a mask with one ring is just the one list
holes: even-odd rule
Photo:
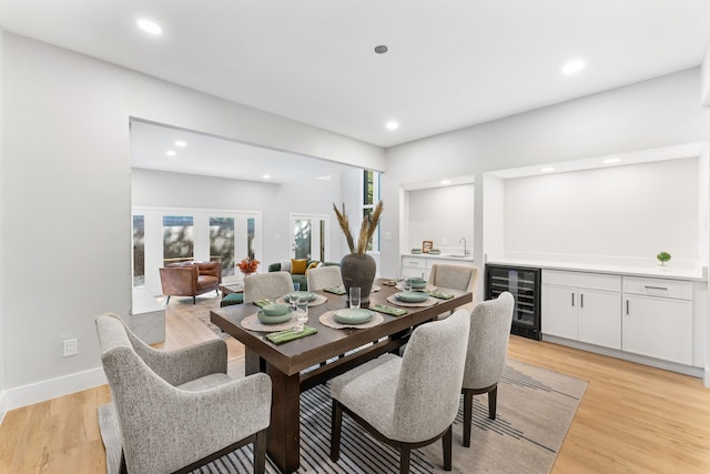
[[248, 443], [254, 472], [264, 472], [268, 375], [232, 380], [220, 339], [159, 351], [115, 314], [103, 314], [95, 324], [121, 431], [121, 472], [190, 472]]

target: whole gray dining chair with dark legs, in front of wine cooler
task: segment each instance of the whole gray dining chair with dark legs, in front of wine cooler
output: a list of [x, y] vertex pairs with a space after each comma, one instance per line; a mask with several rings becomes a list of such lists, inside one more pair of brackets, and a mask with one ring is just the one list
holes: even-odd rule
[[503, 292], [478, 303], [470, 315], [464, 371], [464, 446], [470, 446], [474, 395], [488, 394], [488, 417], [496, 420], [498, 381], [506, 369], [515, 299]]

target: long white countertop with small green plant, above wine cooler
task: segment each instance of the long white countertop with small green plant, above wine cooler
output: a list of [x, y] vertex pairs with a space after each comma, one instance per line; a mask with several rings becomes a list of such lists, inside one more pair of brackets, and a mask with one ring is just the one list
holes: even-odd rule
[[591, 273], [613, 273], [630, 276], [651, 276], [657, 279], [672, 280], [694, 280], [707, 281], [708, 269], [697, 268], [674, 268], [672, 263], [666, 268], [661, 266], [623, 266], [623, 265], [606, 265], [595, 263], [580, 262], [555, 262], [541, 260], [520, 260], [520, 259], [491, 259], [486, 261], [494, 265], [513, 265], [513, 266], [530, 266], [542, 270], [568, 270]]

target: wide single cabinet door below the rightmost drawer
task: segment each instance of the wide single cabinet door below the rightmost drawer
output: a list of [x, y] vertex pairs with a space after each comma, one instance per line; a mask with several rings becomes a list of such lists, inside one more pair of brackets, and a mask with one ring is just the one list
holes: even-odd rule
[[625, 295], [622, 349], [692, 365], [692, 302]]

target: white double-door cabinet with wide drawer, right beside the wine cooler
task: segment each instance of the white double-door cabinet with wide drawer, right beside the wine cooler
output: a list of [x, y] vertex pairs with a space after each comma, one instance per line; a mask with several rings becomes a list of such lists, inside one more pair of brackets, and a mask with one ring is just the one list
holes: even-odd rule
[[542, 271], [542, 333], [621, 349], [621, 276]]

